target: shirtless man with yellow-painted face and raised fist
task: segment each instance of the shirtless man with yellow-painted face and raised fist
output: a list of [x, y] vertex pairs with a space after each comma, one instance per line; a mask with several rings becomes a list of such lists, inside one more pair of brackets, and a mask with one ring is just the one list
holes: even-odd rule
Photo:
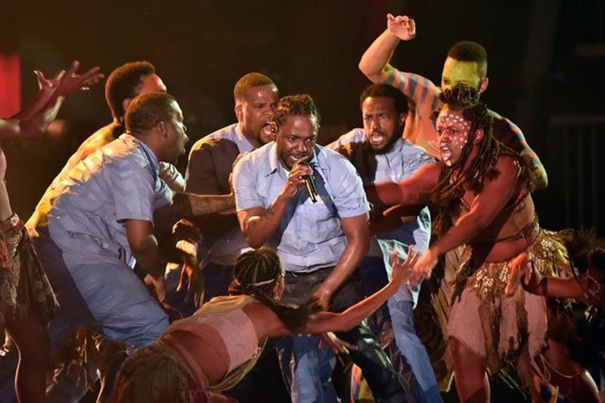
[[[439, 108], [439, 94], [457, 84], [473, 87], [479, 94], [488, 87], [488, 60], [485, 48], [476, 42], [463, 41], [448, 51], [441, 85], [419, 74], [399, 71], [390, 65], [390, 59], [399, 41], [411, 41], [416, 36], [416, 22], [408, 16], [387, 16], [387, 29], [368, 47], [359, 62], [359, 69], [373, 82], [384, 82], [398, 88], [411, 100], [411, 110], [405, 124], [404, 137], [416, 145], [425, 147], [433, 156], [439, 156], [436, 148], [437, 133], [431, 113]], [[537, 154], [529, 147], [517, 125], [494, 111], [493, 136], [499, 142], [514, 149], [532, 162], [536, 172], [536, 189], [546, 188], [548, 176]], [[420, 292], [419, 305], [414, 311], [418, 335], [433, 363], [442, 390], [448, 390], [451, 381], [451, 356], [446, 347], [446, 317], [450, 311], [451, 293], [456, 270], [460, 267], [462, 249], [451, 251], [439, 264], [438, 274], [426, 281]], [[439, 327], [433, 327], [437, 318]]]

